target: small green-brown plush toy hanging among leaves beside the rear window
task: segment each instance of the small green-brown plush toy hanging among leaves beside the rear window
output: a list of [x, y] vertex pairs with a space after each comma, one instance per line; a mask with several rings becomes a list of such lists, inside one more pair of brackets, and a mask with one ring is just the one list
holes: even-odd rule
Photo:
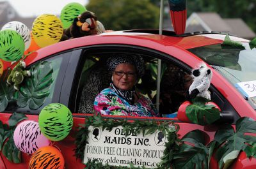
[[16, 91], [19, 91], [20, 84], [24, 80], [24, 77], [30, 77], [31, 73], [29, 70], [23, 70], [26, 68], [26, 63], [20, 61], [11, 71], [9, 77], [7, 78], [7, 84], [13, 84], [13, 87]]

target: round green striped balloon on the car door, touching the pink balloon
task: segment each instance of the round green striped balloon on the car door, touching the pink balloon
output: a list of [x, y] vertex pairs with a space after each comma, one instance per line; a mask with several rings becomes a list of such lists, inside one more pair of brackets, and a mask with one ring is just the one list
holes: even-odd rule
[[46, 138], [52, 141], [60, 141], [72, 129], [73, 117], [65, 105], [51, 103], [41, 110], [38, 123], [41, 132]]

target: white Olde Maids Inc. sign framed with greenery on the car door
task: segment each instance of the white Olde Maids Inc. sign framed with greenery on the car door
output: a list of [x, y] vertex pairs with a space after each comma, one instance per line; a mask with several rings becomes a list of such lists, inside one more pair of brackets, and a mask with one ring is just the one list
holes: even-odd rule
[[111, 132], [102, 128], [89, 128], [88, 143], [84, 149], [83, 163], [88, 160], [98, 159], [102, 164], [113, 166], [145, 166], [156, 168], [163, 157], [166, 136], [161, 131], [153, 135], [135, 135], [129, 132], [125, 136], [122, 126], [113, 128]]

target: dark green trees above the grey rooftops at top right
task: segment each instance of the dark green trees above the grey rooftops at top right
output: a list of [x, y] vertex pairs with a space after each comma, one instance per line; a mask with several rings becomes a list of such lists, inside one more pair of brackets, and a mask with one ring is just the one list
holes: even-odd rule
[[242, 18], [256, 32], [255, 0], [188, 0], [188, 16], [195, 11], [217, 12], [223, 18]]

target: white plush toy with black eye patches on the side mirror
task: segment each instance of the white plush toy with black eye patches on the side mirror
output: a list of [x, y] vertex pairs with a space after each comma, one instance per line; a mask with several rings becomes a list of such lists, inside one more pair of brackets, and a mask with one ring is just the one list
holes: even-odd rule
[[193, 99], [200, 96], [211, 99], [208, 89], [211, 84], [212, 71], [206, 66], [205, 62], [202, 62], [198, 69], [192, 71], [191, 77], [194, 81], [189, 87], [189, 98]]

